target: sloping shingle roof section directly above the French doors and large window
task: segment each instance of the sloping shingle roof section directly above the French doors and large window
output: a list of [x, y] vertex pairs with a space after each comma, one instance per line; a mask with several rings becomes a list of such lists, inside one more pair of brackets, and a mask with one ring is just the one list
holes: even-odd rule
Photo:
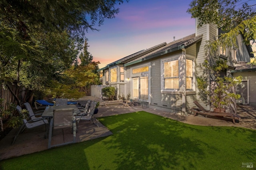
[[130, 62], [124, 64], [124, 66], [132, 65], [134, 63], [138, 63], [138, 62], [141, 62], [141, 61], [144, 61], [147, 59], [158, 57], [160, 55], [171, 53], [171, 52], [177, 51], [179, 49], [188, 48], [188, 47], [190, 47], [190, 45], [197, 43], [201, 40], [202, 40], [202, 35], [195, 36], [195, 34], [192, 34], [190, 36], [186, 36], [186, 37], [176, 40], [174, 42], [170, 42], [167, 45], [165, 45], [164, 47], [156, 49], [155, 51], [152, 51], [151, 53], [147, 53], [146, 55], [138, 57], [138, 58], [134, 59], [133, 61], [130, 61]]

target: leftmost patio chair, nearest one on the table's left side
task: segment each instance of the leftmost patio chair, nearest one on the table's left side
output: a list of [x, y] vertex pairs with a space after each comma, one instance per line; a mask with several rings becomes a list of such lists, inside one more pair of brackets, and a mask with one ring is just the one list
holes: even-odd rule
[[[20, 115], [22, 114], [22, 108], [17, 105], [16, 110], [20, 113]], [[28, 119], [30, 119], [32, 117], [28, 117]], [[23, 132], [25, 130], [25, 128], [27, 129], [31, 129], [31, 128], [35, 128], [35, 127], [39, 127], [41, 125], [45, 125], [45, 138], [47, 136], [47, 132], [48, 132], [48, 121], [46, 119], [43, 119], [42, 117], [40, 118], [35, 118], [35, 119], [30, 119], [29, 121], [27, 119], [23, 119], [23, 124], [20, 126], [18, 132], [16, 133], [16, 135], [14, 136], [14, 139], [12, 141], [12, 144], [14, 144], [16, 138], [18, 137], [18, 135], [20, 134], [20, 132]]]

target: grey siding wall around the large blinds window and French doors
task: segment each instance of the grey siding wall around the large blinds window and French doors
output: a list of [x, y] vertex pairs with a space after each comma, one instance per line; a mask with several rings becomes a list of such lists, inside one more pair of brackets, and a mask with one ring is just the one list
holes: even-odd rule
[[[196, 47], [197, 45], [192, 45], [185, 51], [188, 51], [188, 56], [190, 58], [196, 58]], [[177, 56], [182, 56], [185, 52], [180, 50], [180, 51], [175, 51], [173, 53], [163, 55], [158, 58], [154, 58], [149, 61], [144, 61], [141, 63], [137, 63], [132, 65], [132, 67], [136, 67], [139, 65], [143, 65], [145, 63], [150, 62], [151, 65], [151, 72], [150, 72], [150, 107], [163, 110], [163, 111], [169, 111], [172, 113], [182, 113], [182, 105], [184, 105], [184, 101], [182, 101], [182, 97], [184, 95], [184, 89], [180, 89], [178, 92], [169, 92], [169, 93], [162, 93], [161, 92], [161, 59], [166, 59], [169, 57], [177, 57]], [[184, 57], [185, 59], [185, 57]], [[130, 76], [130, 68], [131, 67], [126, 67], [126, 74], [127, 77], [129, 78]], [[132, 77], [130, 77], [130, 80], [132, 80]], [[133, 99], [132, 95], [132, 87], [130, 86], [130, 83], [127, 83], [127, 91], [131, 91], [131, 99]], [[185, 96], [186, 97], [186, 96]], [[189, 109], [192, 107], [193, 101], [196, 99], [196, 93], [194, 92], [193, 94], [191, 93], [186, 97], [185, 103], [186, 105], [184, 107], [187, 107]]]

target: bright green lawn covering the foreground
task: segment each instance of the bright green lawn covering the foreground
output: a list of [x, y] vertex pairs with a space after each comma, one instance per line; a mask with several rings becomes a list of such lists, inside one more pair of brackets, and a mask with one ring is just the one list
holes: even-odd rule
[[165, 170], [256, 166], [256, 130], [187, 125], [144, 111], [99, 118], [113, 135], [2, 160], [0, 169]]

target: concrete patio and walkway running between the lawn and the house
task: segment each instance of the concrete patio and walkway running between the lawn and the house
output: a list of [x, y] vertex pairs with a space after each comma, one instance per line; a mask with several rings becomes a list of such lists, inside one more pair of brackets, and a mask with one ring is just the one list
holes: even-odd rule
[[[83, 100], [98, 100], [93, 97], [85, 97]], [[43, 108], [41, 108], [43, 109]], [[232, 123], [232, 119], [228, 118], [216, 118], [214, 119], [206, 118], [203, 116], [185, 116], [177, 115], [174, 113], [168, 113], [164, 111], [159, 111], [152, 108], [142, 108], [141, 106], [124, 106], [121, 101], [101, 101], [99, 107], [99, 113], [96, 114], [98, 117], [106, 117], [110, 115], [118, 115], [124, 113], [131, 113], [137, 111], [146, 111], [163, 117], [168, 117], [183, 123], [188, 123], [192, 125], [201, 125], [201, 126], [232, 126], [232, 127], [244, 127], [256, 129], [256, 113], [254, 106], [244, 106], [238, 105], [238, 115], [240, 115], [241, 120], [239, 123]], [[76, 142], [83, 142], [86, 140], [92, 140], [95, 138], [100, 138], [104, 136], [111, 135], [112, 132], [108, 128], [104, 127], [98, 121], [99, 127], [94, 125], [90, 121], [83, 121], [79, 124], [78, 133], [76, 134]], [[24, 154], [30, 154], [34, 152], [40, 152], [42, 150], [47, 150], [48, 138], [44, 138], [45, 128], [35, 128], [30, 130], [24, 130], [19, 134], [16, 142], [11, 145], [12, 140], [18, 129], [13, 129], [5, 138], [0, 141], [0, 160], [8, 159], [16, 156], [21, 156]], [[70, 129], [56, 130], [52, 136], [52, 144], [58, 144], [63, 141], [72, 141], [72, 133]]]

